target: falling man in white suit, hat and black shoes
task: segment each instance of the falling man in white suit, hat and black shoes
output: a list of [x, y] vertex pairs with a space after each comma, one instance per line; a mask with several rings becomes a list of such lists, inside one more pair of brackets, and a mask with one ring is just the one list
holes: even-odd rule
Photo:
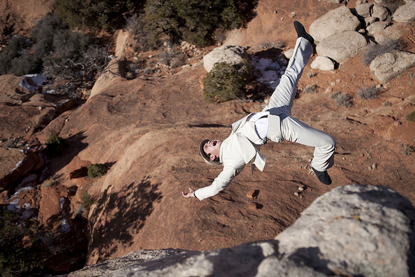
[[246, 164], [251, 164], [251, 173], [255, 167], [262, 171], [265, 166], [265, 156], [259, 150], [267, 140], [273, 142], [289, 140], [314, 147], [314, 157], [310, 167], [320, 182], [326, 185], [332, 183], [327, 169], [334, 164], [336, 142], [333, 137], [291, 117], [297, 83], [310, 59], [314, 42], [300, 22], [295, 21], [294, 27], [298, 39], [293, 56], [269, 104], [261, 112], [251, 113], [233, 123], [232, 132], [224, 141], [207, 139], [200, 143], [200, 155], [205, 162], [214, 165], [223, 164], [223, 170], [210, 186], [196, 191], [189, 187], [188, 193], [182, 191], [184, 197], [203, 200], [218, 194], [242, 172]]

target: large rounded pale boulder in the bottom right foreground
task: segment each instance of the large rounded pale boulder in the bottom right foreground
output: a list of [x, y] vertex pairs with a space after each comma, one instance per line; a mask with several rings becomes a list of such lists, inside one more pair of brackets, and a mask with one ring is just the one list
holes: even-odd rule
[[414, 207], [396, 191], [339, 186], [276, 237], [278, 251], [327, 275], [410, 276], [414, 219]]

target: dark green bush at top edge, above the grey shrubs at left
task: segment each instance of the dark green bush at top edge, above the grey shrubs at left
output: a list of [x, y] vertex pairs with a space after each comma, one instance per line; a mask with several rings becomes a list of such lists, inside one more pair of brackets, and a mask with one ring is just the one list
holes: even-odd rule
[[56, 0], [59, 16], [72, 29], [111, 30], [125, 24], [123, 13], [142, 2], [139, 0]]

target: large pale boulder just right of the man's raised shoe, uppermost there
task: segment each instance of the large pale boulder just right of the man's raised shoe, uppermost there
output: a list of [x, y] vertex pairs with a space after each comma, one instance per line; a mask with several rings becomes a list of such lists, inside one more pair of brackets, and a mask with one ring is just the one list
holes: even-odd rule
[[312, 22], [310, 34], [315, 41], [321, 42], [332, 34], [344, 31], [356, 31], [360, 28], [360, 21], [346, 6], [338, 7], [327, 12]]

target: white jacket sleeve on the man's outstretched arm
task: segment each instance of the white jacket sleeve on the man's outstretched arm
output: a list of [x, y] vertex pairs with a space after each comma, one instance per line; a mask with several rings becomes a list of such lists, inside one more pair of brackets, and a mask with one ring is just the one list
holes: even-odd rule
[[220, 191], [229, 186], [230, 182], [237, 176], [242, 170], [242, 167], [233, 167], [230, 165], [225, 165], [222, 172], [215, 178], [210, 186], [205, 186], [195, 191], [195, 196], [199, 200], [203, 200], [207, 197], [214, 196]]

